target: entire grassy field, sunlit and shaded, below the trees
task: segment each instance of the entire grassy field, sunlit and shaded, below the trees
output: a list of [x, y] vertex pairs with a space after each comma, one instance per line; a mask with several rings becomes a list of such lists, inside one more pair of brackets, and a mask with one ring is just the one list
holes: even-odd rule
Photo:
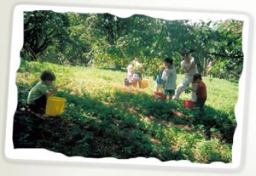
[[[65, 111], [58, 117], [26, 117], [21, 122], [21, 116], [30, 116], [20, 111], [26, 106], [27, 93], [45, 69], [56, 74], [59, 92], [55, 95], [67, 99]], [[96, 158], [232, 162], [237, 83], [203, 77], [208, 99], [205, 115], [199, 116], [198, 111], [183, 107], [183, 99], [190, 94], [183, 93], [180, 100], [171, 102], [154, 101], [152, 77], [145, 77], [149, 87], [144, 89], [126, 87], [125, 77], [125, 71], [21, 60], [16, 80], [19, 113], [15, 114], [15, 127], [19, 129], [14, 128], [15, 148], [45, 148], [67, 156]], [[182, 78], [177, 75], [177, 84]], [[20, 128], [22, 125], [30, 130]], [[35, 137], [32, 133], [37, 130], [41, 132]]]

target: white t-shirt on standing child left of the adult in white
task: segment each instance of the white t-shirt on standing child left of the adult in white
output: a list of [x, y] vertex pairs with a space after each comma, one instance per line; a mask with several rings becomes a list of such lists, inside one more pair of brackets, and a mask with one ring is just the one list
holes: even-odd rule
[[163, 75], [162, 75], [161, 79], [166, 82], [165, 89], [174, 90], [176, 87], [176, 79], [177, 79], [177, 74], [176, 74], [175, 68], [172, 68], [172, 69], [166, 68], [163, 71]]

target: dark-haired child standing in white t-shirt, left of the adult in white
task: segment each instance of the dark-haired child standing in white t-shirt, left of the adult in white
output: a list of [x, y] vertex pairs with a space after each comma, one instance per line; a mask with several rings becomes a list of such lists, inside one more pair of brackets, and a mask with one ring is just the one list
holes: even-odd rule
[[[177, 74], [175, 67], [172, 65], [172, 58], [165, 59], [166, 69], [163, 71], [161, 79], [164, 81], [163, 87], [165, 89], [166, 97], [169, 95], [169, 100], [172, 100], [172, 95], [175, 94]], [[166, 99], [165, 97], [165, 99]]]

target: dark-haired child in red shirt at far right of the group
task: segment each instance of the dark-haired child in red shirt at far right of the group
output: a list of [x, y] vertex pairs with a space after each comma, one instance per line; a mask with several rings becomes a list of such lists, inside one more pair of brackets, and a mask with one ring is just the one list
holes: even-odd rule
[[196, 73], [194, 75], [193, 82], [197, 83], [197, 87], [195, 90], [197, 99], [195, 105], [197, 107], [200, 107], [200, 109], [202, 110], [207, 100], [207, 87], [206, 84], [202, 82], [201, 74], [199, 73]]

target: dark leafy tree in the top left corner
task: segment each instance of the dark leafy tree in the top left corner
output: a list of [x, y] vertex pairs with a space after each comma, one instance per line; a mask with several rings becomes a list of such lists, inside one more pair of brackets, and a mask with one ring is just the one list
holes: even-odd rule
[[[67, 38], [67, 14], [53, 11], [32, 11], [24, 13], [24, 43], [21, 57], [38, 60], [38, 54], [54, 45], [61, 48]], [[54, 48], [54, 49], [55, 49]], [[54, 62], [56, 58], [52, 58]]]

